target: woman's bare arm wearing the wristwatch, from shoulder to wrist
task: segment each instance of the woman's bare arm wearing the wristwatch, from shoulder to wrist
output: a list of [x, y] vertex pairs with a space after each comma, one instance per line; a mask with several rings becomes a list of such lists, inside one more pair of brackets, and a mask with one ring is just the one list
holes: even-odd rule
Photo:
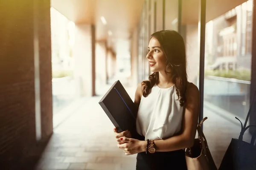
[[[198, 124], [199, 105], [200, 97], [198, 88], [194, 84], [191, 84], [189, 85], [186, 93], [186, 108], [182, 122], [182, 133], [168, 139], [155, 140], [154, 143], [157, 152], [166, 152], [192, 147]], [[146, 142], [141, 144], [143, 151], [146, 151]]]

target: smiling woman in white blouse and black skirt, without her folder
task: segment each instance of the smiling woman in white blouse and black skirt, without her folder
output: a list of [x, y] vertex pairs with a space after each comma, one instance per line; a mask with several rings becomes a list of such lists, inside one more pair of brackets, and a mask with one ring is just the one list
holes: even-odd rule
[[193, 145], [199, 112], [198, 88], [187, 81], [183, 38], [176, 31], [151, 35], [147, 59], [154, 72], [137, 87], [137, 133], [117, 133], [118, 147], [137, 154], [137, 170], [186, 170], [184, 148]]

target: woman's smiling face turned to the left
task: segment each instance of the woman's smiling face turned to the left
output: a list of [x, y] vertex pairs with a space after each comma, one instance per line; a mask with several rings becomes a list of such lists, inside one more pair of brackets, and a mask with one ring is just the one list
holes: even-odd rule
[[159, 41], [152, 37], [148, 44], [147, 59], [150, 65], [150, 71], [159, 72], [164, 71], [166, 68], [166, 57]]

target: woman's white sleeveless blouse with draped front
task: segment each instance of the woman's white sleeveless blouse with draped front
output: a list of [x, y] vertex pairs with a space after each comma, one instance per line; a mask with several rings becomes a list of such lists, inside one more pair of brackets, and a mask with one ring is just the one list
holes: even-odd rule
[[174, 136], [181, 130], [183, 107], [176, 94], [176, 87], [159, 88], [140, 100], [137, 113], [137, 133], [145, 139], [158, 140]]

